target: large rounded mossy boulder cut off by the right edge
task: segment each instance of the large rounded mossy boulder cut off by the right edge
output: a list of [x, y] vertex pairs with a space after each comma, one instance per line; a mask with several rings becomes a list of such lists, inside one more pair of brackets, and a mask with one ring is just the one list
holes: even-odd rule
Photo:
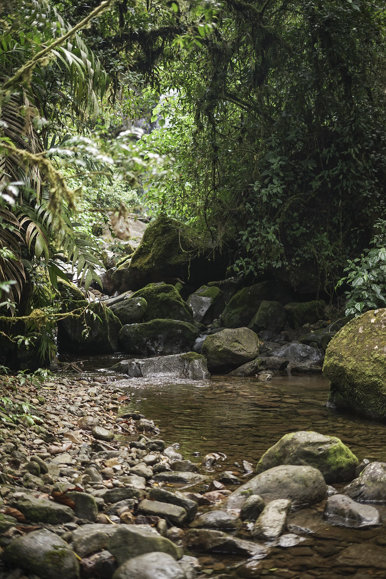
[[323, 375], [329, 404], [363, 416], [386, 419], [386, 309], [346, 324], [330, 341]]

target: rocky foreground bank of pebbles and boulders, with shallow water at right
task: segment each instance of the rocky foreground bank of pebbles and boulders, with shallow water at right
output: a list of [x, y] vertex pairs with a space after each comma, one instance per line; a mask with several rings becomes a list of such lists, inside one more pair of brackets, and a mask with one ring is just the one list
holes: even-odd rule
[[119, 383], [55, 379], [14, 399], [39, 419], [2, 428], [2, 579], [384, 577], [386, 466], [337, 438], [286, 435], [240, 485], [213, 480], [219, 455], [184, 459], [125, 414]]

